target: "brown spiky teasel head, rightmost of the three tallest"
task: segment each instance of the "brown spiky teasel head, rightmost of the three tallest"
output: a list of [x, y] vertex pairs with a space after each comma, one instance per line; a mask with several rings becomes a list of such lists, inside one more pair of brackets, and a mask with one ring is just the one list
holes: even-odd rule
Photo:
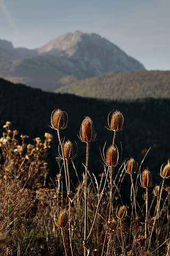
[[116, 110], [112, 114], [110, 128], [112, 131], [119, 132], [122, 130], [124, 122], [123, 114]]

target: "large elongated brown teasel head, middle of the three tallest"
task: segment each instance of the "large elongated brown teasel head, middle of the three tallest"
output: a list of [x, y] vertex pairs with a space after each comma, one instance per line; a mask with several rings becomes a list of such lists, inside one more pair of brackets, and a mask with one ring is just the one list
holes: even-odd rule
[[83, 142], [91, 142], [95, 139], [94, 124], [90, 117], [85, 117], [82, 121], [80, 138]]

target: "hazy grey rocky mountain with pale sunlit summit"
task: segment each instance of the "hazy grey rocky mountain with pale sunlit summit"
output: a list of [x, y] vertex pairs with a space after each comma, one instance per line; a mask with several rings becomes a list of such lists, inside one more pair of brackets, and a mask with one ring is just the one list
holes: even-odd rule
[[0, 76], [46, 91], [63, 86], [60, 79], [67, 76], [83, 79], [129, 70], [145, 68], [97, 34], [67, 33], [34, 50], [0, 40]]

